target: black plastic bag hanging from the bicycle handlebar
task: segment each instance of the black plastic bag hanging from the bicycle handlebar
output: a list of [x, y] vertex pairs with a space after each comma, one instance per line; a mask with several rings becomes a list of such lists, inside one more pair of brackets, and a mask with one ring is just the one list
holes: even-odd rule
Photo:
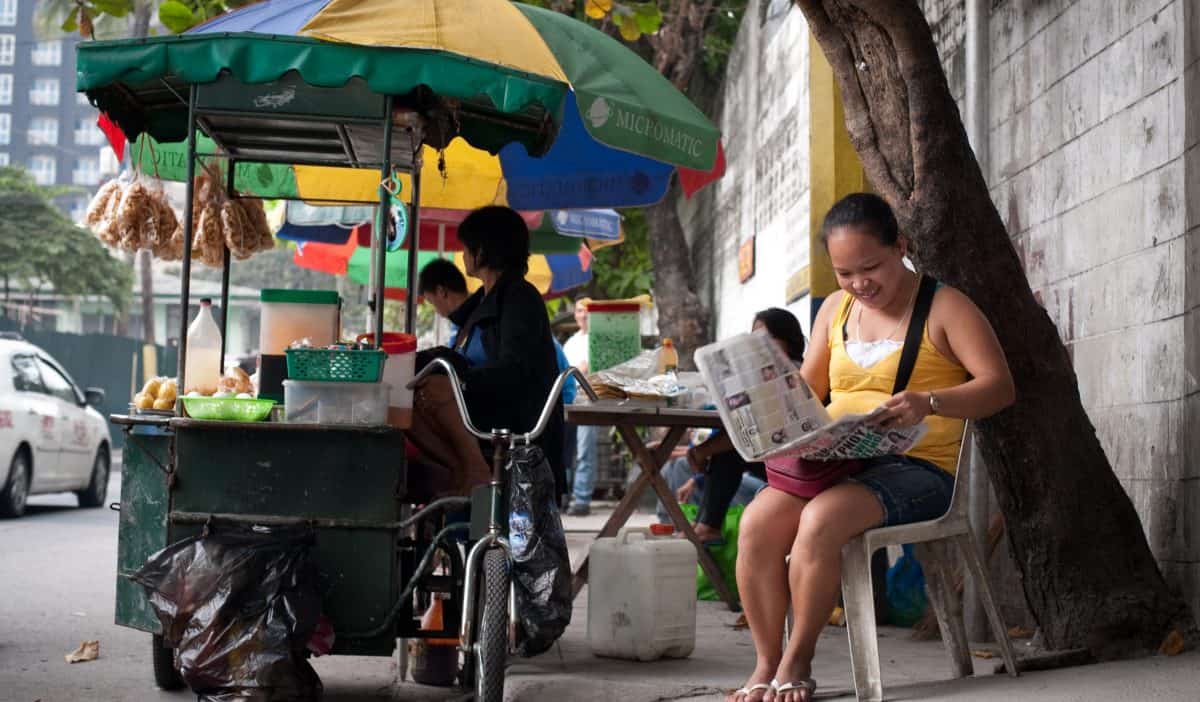
[[571, 559], [546, 455], [538, 446], [521, 446], [509, 462], [517, 653], [533, 656], [548, 649], [571, 623]]

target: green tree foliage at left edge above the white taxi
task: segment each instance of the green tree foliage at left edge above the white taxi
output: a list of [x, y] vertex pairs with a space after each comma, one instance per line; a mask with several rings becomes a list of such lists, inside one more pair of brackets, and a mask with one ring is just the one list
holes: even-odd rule
[[20, 168], [0, 168], [0, 277], [29, 290], [102, 295], [125, 311], [133, 268], [54, 206], [50, 198], [62, 192], [36, 185]]

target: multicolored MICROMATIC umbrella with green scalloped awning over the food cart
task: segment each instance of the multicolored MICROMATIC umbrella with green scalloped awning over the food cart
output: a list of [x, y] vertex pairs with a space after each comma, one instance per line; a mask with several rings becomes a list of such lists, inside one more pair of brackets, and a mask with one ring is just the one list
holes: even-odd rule
[[[677, 170], [690, 194], [725, 166], [716, 127], [634, 52], [508, 0], [266, 0], [176, 37], [83, 43], [77, 68], [78, 89], [128, 137], [158, 142], [151, 160], [168, 179], [186, 163], [170, 144], [187, 136], [178, 97], [224, 77], [270, 86], [256, 97], [268, 108], [304, 97], [288, 83], [295, 77], [396, 96], [431, 125], [424, 206], [640, 206], [660, 200]], [[353, 151], [355, 134], [344, 140]], [[379, 176], [242, 160], [235, 185], [259, 197], [372, 202]], [[410, 193], [406, 182], [402, 197]]]

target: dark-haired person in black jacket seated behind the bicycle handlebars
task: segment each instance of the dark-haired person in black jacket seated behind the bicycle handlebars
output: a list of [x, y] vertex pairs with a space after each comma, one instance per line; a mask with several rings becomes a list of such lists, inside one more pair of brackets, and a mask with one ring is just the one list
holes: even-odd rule
[[[533, 431], [558, 377], [558, 361], [546, 305], [524, 280], [529, 229], [514, 210], [487, 206], [462, 221], [458, 239], [467, 275], [482, 281], [482, 287], [454, 310], [445, 310], [457, 326], [455, 338], [449, 347], [418, 354], [418, 365], [437, 356], [451, 359], [476, 428]], [[433, 274], [431, 280], [436, 280]], [[431, 302], [433, 298], [438, 298], [436, 289]], [[491, 464], [485, 458], [491, 446], [481, 446], [467, 431], [445, 376], [432, 376], [418, 385], [413, 426], [407, 433], [428, 460], [450, 469], [454, 493], [469, 494], [470, 488], [491, 480]], [[562, 442], [559, 401], [558, 412], [538, 440], [559, 490], [565, 486]]]

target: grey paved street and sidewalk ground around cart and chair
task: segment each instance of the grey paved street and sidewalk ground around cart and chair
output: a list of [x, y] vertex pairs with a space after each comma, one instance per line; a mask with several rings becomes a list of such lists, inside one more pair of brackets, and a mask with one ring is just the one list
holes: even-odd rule
[[[119, 494], [114, 475], [109, 494]], [[598, 528], [602, 514], [568, 520], [569, 528]], [[638, 521], [649, 516], [640, 515]], [[589, 536], [569, 534], [578, 558]], [[73, 496], [35, 498], [30, 512], [0, 521], [0, 702], [191, 702], [186, 691], [163, 692], [150, 672], [146, 634], [113, 624], [116, 512], [80, 510]], [[587, 648], [587, 594], [575, 601], [562, 646], [509, 668], [508, 697], [516, 701], [662, 702], [720, 700], [751, 670], [754, 648], [745, 630], [731, 628], [733, 614], [716, 602], [697, 607], [696, 650], [685, 660], [649, 664], [596, 659]], [[80, 641], [100, 640], [101, 656], [67, 665], [62, 656]], [[947, 682], [940, 642], [911, 642], [908, 632], [880, 631], [887, 694], [893, 700], [971, 700], [972, 702], [1106, 702], [1198, 700], [1200, 655], [1152, 658], [1085, 666], [1019, 679]], [[827, 629], [814, 661], [822, 700], [853, 698], [846, 634]], [[995, 661], [978, 660], [976, 672]], [[396, 684], [395, 659], [332, 656], [313, 661], [328, 702], [448, 700], [448, 690]]]

